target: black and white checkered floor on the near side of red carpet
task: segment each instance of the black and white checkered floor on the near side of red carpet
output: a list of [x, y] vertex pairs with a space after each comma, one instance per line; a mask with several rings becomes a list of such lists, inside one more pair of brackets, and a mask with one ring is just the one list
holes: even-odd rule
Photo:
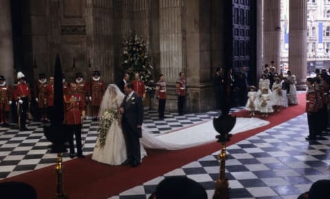
[[[330, 178], [330, 134], [307, 142], [306, 114], [227, 148], [225, 176], [230, 198], [296, 199], [313, 182]], [[195, 162], [133, 187], [111, 199], [145, 199], [166, 176], [188, 176], [214, 193], [219, 161], [214, 152]]]

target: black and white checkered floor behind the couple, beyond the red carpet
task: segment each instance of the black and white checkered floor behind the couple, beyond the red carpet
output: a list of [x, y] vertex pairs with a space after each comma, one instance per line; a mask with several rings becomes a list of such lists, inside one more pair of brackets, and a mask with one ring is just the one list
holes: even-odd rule
[[[232, 109], [232, 112], [243, 107]], [[144, 125], [154, 134], [161, 134], [170, 130], [179, 129], [218, 116], [219, 112], [204, 114], [186, 114], [178, 116], [176, 113], [167, 113], [164, 121], [159, 121], [156, 111], [146, 111]], [[29, 131], [19, 132], [15, 124], [10, 128], [0, 127], [0, 180], [9, 178], [27, 171], [33, 171], [56, 163], [56, 154], [51, 154], [43, 134], [42, 123], [30, 123]], [[98, 122], [87, 120], [83, 123], [83, 152], [91, 154], [98, 138]], [[67, 153], [63, 160], [70, 160]]]

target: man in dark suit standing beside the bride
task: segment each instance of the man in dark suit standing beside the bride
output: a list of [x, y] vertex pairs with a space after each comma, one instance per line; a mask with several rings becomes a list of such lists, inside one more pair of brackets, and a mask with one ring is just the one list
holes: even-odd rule
[[133, 84], [124, 85], [126, 96], [120, 105], [122, 131], [126, 140], [127, 160], [123, 165], [137, 167], [141, 162], [140, 140], [142, 138], [143, 103], [142, 98], [133, 91]]

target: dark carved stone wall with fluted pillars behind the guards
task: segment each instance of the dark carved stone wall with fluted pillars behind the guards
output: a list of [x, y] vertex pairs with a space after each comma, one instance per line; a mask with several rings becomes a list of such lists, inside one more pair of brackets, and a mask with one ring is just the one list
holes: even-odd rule
[[[61, 55], [67, 81], [76, 72], [89, 80], [100, 70], [106, 83], [121, 78], [121, 41], [130, 30], [142, 34], [155, 69], [168, 83], [166, 111], [176, 111], [175, 81], [187, 76], [187, 111], [213, 108], [212, 76], [223, 63], [222, 2], [217, 0], [36, 0], [32, 10], [30, 67], [52, 75]], [[43, 24], [43, 25], [40, 25]], [[39, 27], [39, 26], [43, 27]], [[30, 33], [30, 32], [28, 32]], [[28, 36], [27, 33], [27, 36]], [[89, 61], [91, 68], [89, 68]], [[73, 67], [75, 64], [75, 67]], [[156, 108], [153, 101], [151, 107]]]

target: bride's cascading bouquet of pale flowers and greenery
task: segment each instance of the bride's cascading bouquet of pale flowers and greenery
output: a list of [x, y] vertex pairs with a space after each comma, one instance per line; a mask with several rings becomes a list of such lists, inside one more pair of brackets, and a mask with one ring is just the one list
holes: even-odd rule
[[98, 125], [98, 141], [100, 142], [100, 147], [105, 144], [105, 139], [107, 138], [107, 132], [111, 127], [111, 123], [118, 118], [118, 111], [113, 109], [107, 109], [100, 118], [100, 123]]

